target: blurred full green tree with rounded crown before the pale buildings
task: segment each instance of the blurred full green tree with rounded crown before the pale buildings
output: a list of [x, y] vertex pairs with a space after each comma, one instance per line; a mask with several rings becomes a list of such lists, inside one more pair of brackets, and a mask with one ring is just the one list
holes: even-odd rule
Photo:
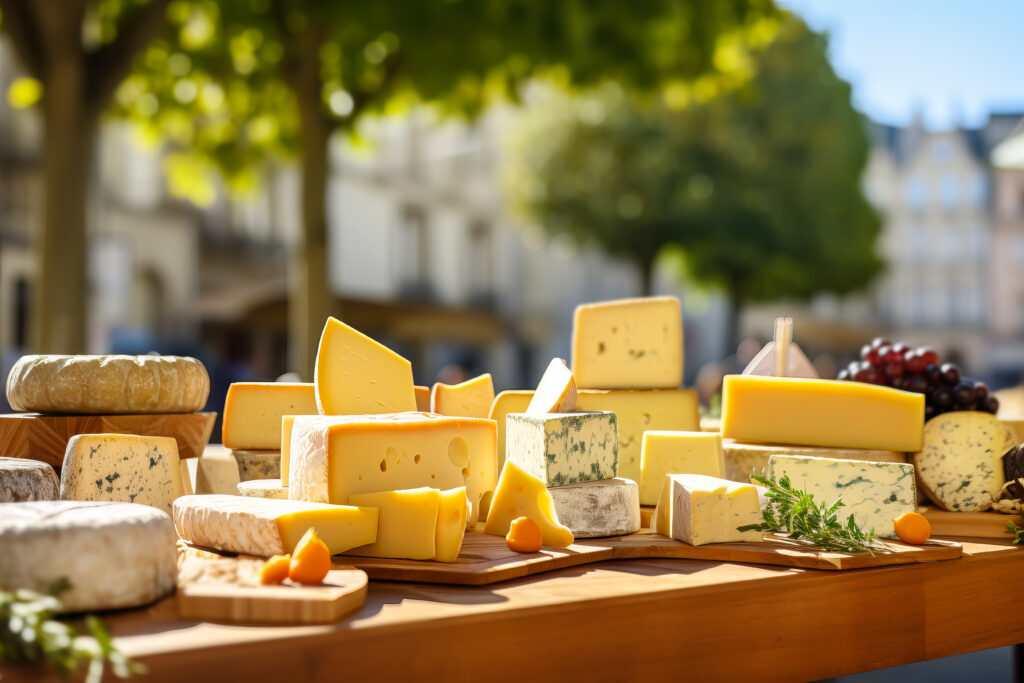
[[825, 38], [791, 17], [753, 54], [739, 87], [698, 85], [653, 108], [616, 88], [542, 93], [510, 173], [547, 233], [633, 261], [645, 292], [674, 250], [689, 279], [728, 295], [731, 341], [746, 303], [852, 292], [883, 267], [860, 187], [865, 124]]

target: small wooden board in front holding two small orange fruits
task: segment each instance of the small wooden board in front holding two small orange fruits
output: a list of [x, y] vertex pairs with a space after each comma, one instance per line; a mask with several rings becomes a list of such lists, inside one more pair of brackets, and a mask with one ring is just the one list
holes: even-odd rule
[[362, 608], [365, 571], [336, 564], [322, 586], [261, 586], [263, 558], [178, 550], [176, 602], [182, 618], [232, 624], [333, 624]]

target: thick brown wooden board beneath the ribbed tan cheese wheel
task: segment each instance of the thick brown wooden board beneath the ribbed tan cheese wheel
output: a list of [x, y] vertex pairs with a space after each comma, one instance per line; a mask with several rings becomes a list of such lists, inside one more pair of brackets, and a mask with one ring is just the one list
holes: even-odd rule
[[0, 415], [0, 455], [31, 458], [60, 467], [68, 441], [76, 434], [173, 436], [178, 456], [198, 458], [213, 433], [216, 413], [165, 415]]

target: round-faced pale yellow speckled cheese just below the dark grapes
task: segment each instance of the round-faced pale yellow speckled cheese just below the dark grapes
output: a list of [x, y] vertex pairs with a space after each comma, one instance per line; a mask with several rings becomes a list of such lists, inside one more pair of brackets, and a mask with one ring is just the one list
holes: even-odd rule
[[1002, 456], [1013, 445], [1013, 435], [993, 415], [945, 413], [928, 421], [924, 446], [910, 462], [918, 483], [940, 508], [980, 512], [999, 498]]

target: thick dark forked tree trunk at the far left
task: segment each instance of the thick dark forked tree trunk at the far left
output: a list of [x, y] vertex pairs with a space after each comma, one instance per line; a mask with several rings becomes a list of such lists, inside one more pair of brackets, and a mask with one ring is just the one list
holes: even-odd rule
[[14, 106], [42, 109], [43, 215], [36, 231], [30, 346], [85, 348], [86, 194], [99, 115], [162, 30], [168, 0], [0, 0], [2, 27], [27, 76]]

